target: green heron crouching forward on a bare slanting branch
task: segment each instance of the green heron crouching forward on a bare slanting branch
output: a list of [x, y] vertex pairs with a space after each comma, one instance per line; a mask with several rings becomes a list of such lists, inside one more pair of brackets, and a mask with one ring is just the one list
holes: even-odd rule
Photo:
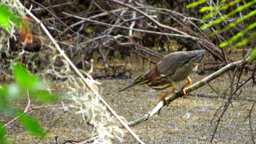
[[[188, 82], [183, 85], [181, 89], [184, 95], [183, 98], [185, 98], [185, 88], [191, 84], [189, 76], [196, 72], [199, 63], [205, 57], [204, 53], [205, 50], [177, 51], [170, 53], [163, 57], [155, 68], [146, 71], [137, 77], [134, 82], [122, 87], [116, 93], [141, 84], [146, 84], [156, 90], [166, 89], [172, 85], [173, 88], [171, 92], [161, 98], [161, 100], [165, 100], [166, 102], [165, 97], [175, 91], [175, 84], [187, 79]], [[168, 103], [166, 102], [166, 104]]]

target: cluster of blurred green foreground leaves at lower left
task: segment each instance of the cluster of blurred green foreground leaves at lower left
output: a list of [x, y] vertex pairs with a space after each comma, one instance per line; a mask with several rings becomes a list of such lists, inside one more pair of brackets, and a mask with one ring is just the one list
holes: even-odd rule
[[[56, 100], [56, 96], [41, 90], [43, 82], [40, 82], [36, 76], [30, 74], [24, 66], [14, 63], [12, 68], [16, 84], [3, 85], [0, 88], [0, 111], [15, 117], [19, 116], [19, 121], [28, 132], [35, 136], [43, 136], [46, 133], [37, 120], [24, 115], [21, 110], [11, 108], [10, 105], [18, 100], [20, 96], [25, 96], [26, 93], [32, 94], [31, 97], [37, 98], [42, 102], [52, 102]], [[0, 142], [6, 142], [5, 134], [6, 131], [0, 123]]]

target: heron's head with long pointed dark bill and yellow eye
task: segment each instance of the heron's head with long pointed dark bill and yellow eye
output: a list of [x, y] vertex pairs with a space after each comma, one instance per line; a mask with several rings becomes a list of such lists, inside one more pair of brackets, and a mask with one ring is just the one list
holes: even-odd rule
[[150, 73], [151, 70], [145, 72], [144, 74], [138, 76], [134, 82], [130, 83], [130, 84], [127, 84], [125, 85], [124, 87], [122, 87], [119, 91], [117, 91], [116, 93], [119, 93], [119, 92], [122, 92], [124, 90], [127, 90], [129, 88], [132, 88], [136, 85], [140, 85], [140, 84], [145, 84], [146, 82], [148, 82], [148, 74]]

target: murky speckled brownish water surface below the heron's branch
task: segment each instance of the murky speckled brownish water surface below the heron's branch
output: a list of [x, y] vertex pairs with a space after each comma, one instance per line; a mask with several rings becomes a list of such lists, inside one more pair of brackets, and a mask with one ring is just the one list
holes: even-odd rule
[[[204, 75], [192, 76], [192, 83], [202, 79]], [[224, 81], [225, 79], [225, 81]], [[127, 121], [136, 120], [142, 117], [146, 112], [150, 111], [157, 104], [163, 91], [156, 91], [148, 86], [140, 85], [127, 91], [115, 94], [115, 92], [128, 84], [132, 80], [103, 80], [104, 89], [103, 98], [110, 106]], [[183, 82], [182, 82], [183, 83]], [[184, 82], [185, 83], [185, 82]], [[165, 107], [159, 116], [154, 116], [139, 125], [132, 127], [134, 132], [146, 144], [191, 144], [191, 143], [209, 143], [211, 135], [214, 132], [213, 126], [210, 124], [214, 112], [224, 104], [222, 93], [228, 87], [228, 77], [226, 75], [219, 77], [210, 83], [211, 86], [219, 93], [219, 96], [209, 87], [205, 85], [187, 96], [186, 99], [179, 98], [173, 101], [169, 107]], [[178, 84], [178, 88], [182, 84]], [[223, 89], [224, 88], [224, 89]], [[197, 96], [196, 96], [197, 95]], [[251, 83], [244, 86], [240, 96], [232, 101], [232, 106], [227, 110], [225, 116], [221, 120], [218, 128], [219, 134], [216, 134], [214, 142], [224, 143], [252, 143], [252, 136], [248, 120], [244, 119], [249, 114], [253, 105], [252, 101], [256, 100], [256, 87], [251, 87]], [[68, 103], [68, 101], [66, 102]], [[25, 108], [26, 99], [15, 104], [17, 108]], [[37, 106], [37, 103], [33, 103]], [[65, 140], [80, 140], [90, 135], [92, 127], [88, 126], [81, 116], [73, 113], [59, 112], [58, 108], [34, 110], [28, 115], [37, 118], [44, 129], [48, 131], [47, 136], [40, 140], [31, 136], [24, 130], [17, 121], [8, 125], [7, 138], [18, 144], [35, 144], [45, 143], [54, 144], [54, 136], [58, 135], [58, 143]], [[0, 114], [3, 123], [7, 123], [13, 118]], [[256, 136], [256, 108], [252, 111], [252, 127]], [[135, 139], [126, 133], [124, 144], [135, 143]], [[113, 141], [113, 143], [119, 143]]]

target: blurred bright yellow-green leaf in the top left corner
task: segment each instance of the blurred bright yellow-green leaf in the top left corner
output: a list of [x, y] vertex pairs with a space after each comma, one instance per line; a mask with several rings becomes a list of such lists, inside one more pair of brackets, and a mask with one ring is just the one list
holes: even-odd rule
[[17, 14], [11, 12], [8, 7], [4, 4], [0, 4], [0, 27], [10, 33], [12, 24], [19, 25], [20, 19]]

